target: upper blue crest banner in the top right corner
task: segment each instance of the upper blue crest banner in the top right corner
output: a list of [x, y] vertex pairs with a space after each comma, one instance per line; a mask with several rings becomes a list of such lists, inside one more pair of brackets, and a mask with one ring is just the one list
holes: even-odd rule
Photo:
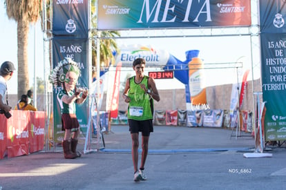
[[285, 33], [285, 0], [260, 0], [260, 31], [267, 33]]

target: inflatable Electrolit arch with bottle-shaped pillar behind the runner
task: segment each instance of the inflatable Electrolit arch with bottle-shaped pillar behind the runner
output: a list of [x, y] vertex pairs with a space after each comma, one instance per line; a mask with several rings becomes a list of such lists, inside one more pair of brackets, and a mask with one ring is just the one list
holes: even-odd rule
[[[187, 50], [185, 53], [186, 60], [180, 61], [166, 50], [157, 50], [151, 46], [134, 44], [120, 48], [116, 63], [122, 63], [122, 66], [132, 68], [133, 61], [138, 57], [142, 57], [146, 60], [146, 67], [153, 66], [161, 67], [163, 70], [173, 70], [174, 77], [185, 85], [187, 106], [191, 103], [202, 106], [207, 104], [207, 97], [204, 88], [204, 76], [202, 75], [203, 70], [201, 69], [203, 67], [196, 67], [198, 66], [197, 61], [202, 62], [198, 58], [199, 52], [200, 50]], [[195, 65], [195, 68], [193, 68], [193, 65]]]

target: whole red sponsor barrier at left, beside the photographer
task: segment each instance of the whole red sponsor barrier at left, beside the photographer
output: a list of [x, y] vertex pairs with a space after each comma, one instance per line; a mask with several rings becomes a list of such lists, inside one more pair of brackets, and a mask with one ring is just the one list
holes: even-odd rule
[[6, 119], [0, 114], [0, 159], [28, 155], [44, 149], [44, 111], [10, 111]]

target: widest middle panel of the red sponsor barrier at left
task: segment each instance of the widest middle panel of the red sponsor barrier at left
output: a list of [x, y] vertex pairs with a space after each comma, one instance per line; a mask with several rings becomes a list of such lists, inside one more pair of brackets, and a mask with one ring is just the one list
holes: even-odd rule
[[7, 120], [8, 158], [29, 153], [30, 111], [11, 111], [12, 117]]

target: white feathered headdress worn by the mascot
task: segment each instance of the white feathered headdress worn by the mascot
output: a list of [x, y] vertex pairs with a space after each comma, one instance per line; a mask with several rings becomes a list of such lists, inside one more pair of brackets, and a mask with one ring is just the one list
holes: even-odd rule
[[77, 77], [79, 76], [80, 70], [75, 61], [70, 58], [59, 61], [49, 76], [50, 83], [55, 87], [61, 86], [62, 83], [66, 82], [66, 73], [70, 71], [75, 72]]

